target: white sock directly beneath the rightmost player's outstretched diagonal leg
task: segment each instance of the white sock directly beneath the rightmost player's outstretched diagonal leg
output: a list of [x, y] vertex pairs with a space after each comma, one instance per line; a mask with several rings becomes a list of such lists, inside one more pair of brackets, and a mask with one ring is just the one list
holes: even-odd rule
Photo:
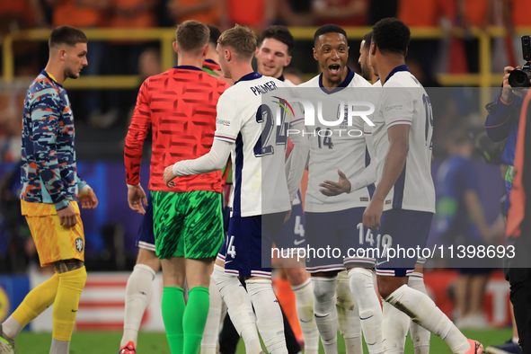
[[382, 338], [385, 354], [403, 354], [405, 340], [412, 319], [384, 301], [382, 314]]

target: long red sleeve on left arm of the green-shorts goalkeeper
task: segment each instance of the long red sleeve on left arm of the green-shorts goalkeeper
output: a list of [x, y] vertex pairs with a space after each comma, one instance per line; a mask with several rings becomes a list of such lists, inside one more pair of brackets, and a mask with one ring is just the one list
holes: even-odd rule
[[129, 125], [124, 149], [126, 179], [129, 185], [140, 183], [140, 163], [142, 162], [142, 148], [149, 128], [151, 128], [151, 110], [148, 98], [149, 78], [140, 87], [137, 105]]

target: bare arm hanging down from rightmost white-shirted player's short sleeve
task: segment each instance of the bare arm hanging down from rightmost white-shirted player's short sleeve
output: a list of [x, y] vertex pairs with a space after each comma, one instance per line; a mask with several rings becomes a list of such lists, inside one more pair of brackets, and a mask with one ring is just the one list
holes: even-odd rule
[[385, 197], [398, 180], [409, 151], [410, 125], [399, 124], [388, 128], [389, 150], [385, 155], [382, 179], [376, 187], [375, 194], [363, 213], [363, 226], [375, 230], [380, 226], [384, 211]]

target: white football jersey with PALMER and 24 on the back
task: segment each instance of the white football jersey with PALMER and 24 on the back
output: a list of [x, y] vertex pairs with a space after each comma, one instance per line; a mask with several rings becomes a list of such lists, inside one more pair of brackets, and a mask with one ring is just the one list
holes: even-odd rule
[[252, 217], [290, 208], [285, 158], [286, 129], [292, 117], [278, 127], [275, 108], [262, 104], [262, 95], [285, 87], [278, 79], [252, 73], [219, 97], [214, 138], [235, 142], [231, 216]]

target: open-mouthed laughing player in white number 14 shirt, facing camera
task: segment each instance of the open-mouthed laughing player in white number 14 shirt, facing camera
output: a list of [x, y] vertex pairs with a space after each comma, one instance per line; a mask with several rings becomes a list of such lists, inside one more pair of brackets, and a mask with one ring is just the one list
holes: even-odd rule
[[[348, 58], [349, 45], [346, 32], [333, 24], [324, 25], [314, 35], [314, 59], [319, 62], [323, 74], [298, 87], [312, 88], [313, 91], [306, 90], [310, 91], [308, 94], [314, 102], [333, 101], [338, 93], [341, 94], [343, 88], [350, 88], [350, 96], [356, 96], [354, 101], [369, 100], [376, 103], [376, 90], [353, 89], [372, 86], [346, 66]], [[306, 96], [305, 92], [299, 94]], [[337, 105], [330, 110], [324, 111], [323, 116], [335, 118], [337, 114], [339, 119], [343, 115], [343, 111]], [[352, 177], [365, 169], [369, 157], [365, 138], [350, 137], [347, 133], [342, 136], [332, 136], [332, 130], [323, 126], [305, 128], [310, 138], [308, 190], [305, 199], [306, 242], [314, 249], [338, 248], [345, 255], [341, 260], [312, 258], [306, 265], [306, 270], [312, 273], [314, 282], [315, 321], [324, 350], [326, 354], [337, 353], [338, 316], [334, 298], [338, 273], [347, 269], [350, 291], [358, 303], [358, 317], [368, 350], [371, 354], [382, 353], [382, 310], [373, 288], [371, 271], [375, 259], [357, 255], [347, 256], [349, 249], [372, 247], [371, 242], [358, 237], [361, 234], [365, 237], [361, 221], [363, 210], [367, 207], [370, 197], [369, 189], [334, 198], [323, 196], [319, 189], [322, 181], [337, 176], [338, 168], [345, 175]], [[355, 119], [352, 127], [340, 125], [337, 128], [356, 128], [357, 131], [365, 131], [361, 119]], [[325, 137], [321, 135], [322, 131], [331, 135]], [[361, 348], [360, 335], [358, 325], [358, 341], [352, 344], [356, 346], [356, 350]]]

